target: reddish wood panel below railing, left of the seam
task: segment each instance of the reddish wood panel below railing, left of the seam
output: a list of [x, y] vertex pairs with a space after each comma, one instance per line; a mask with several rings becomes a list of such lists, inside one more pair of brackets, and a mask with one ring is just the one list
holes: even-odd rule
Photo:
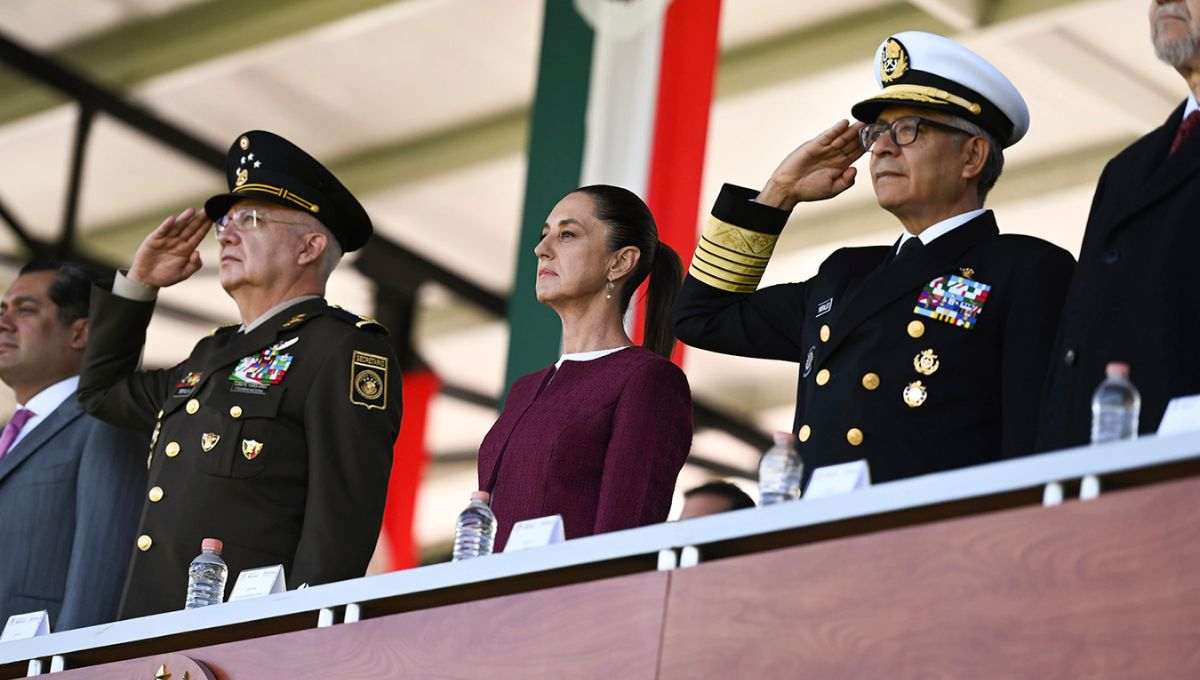
[[[668, 574], [649, 572], [192, 649], [217, 680], [331, 678], [647, 679], [656, 674]], [[154, 660], [62, 680], [150, 680]], [[175, 675], [173, 680], [180, 680]]]

